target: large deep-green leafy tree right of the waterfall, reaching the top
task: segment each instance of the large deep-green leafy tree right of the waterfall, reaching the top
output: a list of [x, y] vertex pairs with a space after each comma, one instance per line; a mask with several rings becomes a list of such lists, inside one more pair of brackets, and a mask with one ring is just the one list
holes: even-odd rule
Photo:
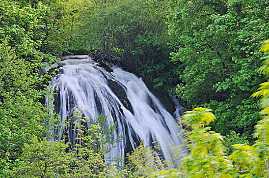
[[212, 126], [222, 134], [249, 135], [260, 120], [249, 97], [264, 81], [258, 69], [260, 42], [268, 38], [267, 7], [268, 1], [256, 0], [171, 1], [172, 61], [184, 64], [177, 94], [190, 108], [212, 108], [219, 118]]

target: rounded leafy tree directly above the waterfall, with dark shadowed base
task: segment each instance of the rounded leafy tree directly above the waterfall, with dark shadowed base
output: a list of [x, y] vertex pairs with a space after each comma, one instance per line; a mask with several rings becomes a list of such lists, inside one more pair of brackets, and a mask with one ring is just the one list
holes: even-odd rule
[[166, 33], [168, 8], [167, 1], [96, 2], [86, 14], [87, 41], [93, 49], [120, 55], [122, 60], [115, 63], [139, 73], [149, 86], [175, 86], [177, 77], [171, 68], [177, 66], [169, 60]]

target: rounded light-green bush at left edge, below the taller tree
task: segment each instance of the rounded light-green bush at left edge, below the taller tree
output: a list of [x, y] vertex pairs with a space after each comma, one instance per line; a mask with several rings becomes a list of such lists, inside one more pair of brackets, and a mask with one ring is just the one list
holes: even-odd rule
[[9, 175], [6, 169], [14, 166], [24, 143], [43, 136], [47, 118], [39, 102], [43, 95], [37, 90], [39, 79], [8, 41], [7, 37], [0, 44], [0, 177]]

